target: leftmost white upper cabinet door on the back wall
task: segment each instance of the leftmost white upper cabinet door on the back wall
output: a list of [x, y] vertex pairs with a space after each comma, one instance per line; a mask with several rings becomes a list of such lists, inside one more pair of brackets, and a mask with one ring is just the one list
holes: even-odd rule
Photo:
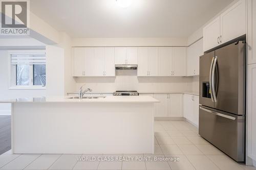
[[73, 76], [83, 76], [84, 48], [73, 48]]

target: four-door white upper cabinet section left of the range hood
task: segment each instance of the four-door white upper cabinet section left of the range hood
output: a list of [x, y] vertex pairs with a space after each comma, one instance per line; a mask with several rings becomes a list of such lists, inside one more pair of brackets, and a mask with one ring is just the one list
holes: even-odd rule
[[73, 76], [115, 76], [114, 47], [74, 47]]

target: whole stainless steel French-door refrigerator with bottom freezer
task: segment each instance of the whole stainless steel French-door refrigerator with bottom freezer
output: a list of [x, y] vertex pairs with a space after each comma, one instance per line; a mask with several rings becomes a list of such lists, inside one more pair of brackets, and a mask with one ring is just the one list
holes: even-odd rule
[[236, 161], [245, 155], [245, 41], [200, 57], [199, 134]]

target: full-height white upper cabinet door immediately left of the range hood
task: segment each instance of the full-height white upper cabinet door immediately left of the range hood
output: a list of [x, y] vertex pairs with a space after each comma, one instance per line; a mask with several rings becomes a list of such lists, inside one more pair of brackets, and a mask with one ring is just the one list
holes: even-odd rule
[[104, 76], [115, 76], [115, 50], [114, 47], [104, 48]]

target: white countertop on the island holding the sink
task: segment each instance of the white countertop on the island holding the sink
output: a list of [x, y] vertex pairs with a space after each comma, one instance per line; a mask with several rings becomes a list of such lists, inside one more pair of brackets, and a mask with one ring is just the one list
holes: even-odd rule
[[65, 98], [20, 98], [20, 99], [8, 99], [0, 100], [0, 103], [17, 103], [17, 102], [34, 102], [34, 103], [59, 103], [59, 102], [70, 102], [70, 103], [157, 103], [158, 100], [151, 96], [106, 96], [105, 98], [98, 99], [69, 99], [70, 96]]

